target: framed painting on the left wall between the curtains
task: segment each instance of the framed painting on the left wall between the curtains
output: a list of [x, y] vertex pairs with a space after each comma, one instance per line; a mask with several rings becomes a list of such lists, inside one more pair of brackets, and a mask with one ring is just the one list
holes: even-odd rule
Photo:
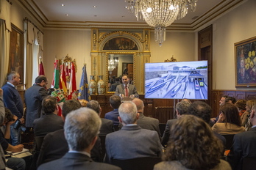
[[16, 71], [20, 74], [21, 82], [24, 84], [24, 32], [12, 24], [12, 32], [10, 32], [10, 59], [8, 72]]

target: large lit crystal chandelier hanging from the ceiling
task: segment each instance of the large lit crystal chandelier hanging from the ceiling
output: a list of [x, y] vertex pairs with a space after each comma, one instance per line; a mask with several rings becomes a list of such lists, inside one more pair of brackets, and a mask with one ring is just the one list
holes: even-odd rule
[[194, 12], [197, 0], [125, 0], [129, 12], [154, 26], [154, 40], [161, 46], [166, 40], [166, 26], [185, 17], [188, 7]]

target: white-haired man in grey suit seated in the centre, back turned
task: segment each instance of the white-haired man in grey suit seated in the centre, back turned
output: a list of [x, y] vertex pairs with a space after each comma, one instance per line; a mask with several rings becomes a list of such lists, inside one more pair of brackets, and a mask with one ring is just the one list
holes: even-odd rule
[[160, 157], [162, 145], [154, 130], [142, 129], [137, 125], [139, 117], [135, 103], [124, 102], [118, 109], [121, 130], [107, 134], [105, 161], [113, 159], [132, 159], [141, 157]]

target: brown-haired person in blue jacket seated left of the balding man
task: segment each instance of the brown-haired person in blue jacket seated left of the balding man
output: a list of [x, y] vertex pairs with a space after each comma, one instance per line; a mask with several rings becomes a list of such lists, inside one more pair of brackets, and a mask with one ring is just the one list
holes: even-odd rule
[[107, 112], [105, 114], [105, 119], [110, 119], [113, 121], [114, 125], [119, 125], [119, 114], [118, 114], [118, 108], [121, 105], [121, 98], [119, 96], [113, 95], [110, 97], [110, 106], [113, 108], [113, 111]]

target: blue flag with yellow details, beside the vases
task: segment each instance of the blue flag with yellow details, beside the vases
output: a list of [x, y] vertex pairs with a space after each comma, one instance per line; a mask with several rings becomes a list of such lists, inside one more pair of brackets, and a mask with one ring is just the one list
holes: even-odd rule
[[88, 94], [88, 79], [87, 79], [87, 73], [86, 73], [86, 65], [82, 67], [82, 78], [79, 86], [79, 93], [78, 93], [78, 99], [85, 99], [89, 101], [89, 94]]

